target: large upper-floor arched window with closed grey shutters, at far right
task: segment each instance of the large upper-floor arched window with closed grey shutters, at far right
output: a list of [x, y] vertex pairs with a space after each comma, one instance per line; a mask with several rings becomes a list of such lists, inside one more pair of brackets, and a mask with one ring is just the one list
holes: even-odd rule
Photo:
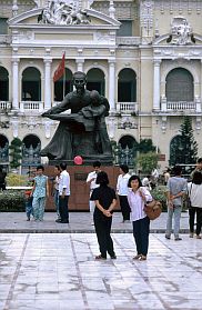
[[175, 68], [165, 79], [165, 97], [168, 101], [194, 101], [192, 74], [184, 68]]

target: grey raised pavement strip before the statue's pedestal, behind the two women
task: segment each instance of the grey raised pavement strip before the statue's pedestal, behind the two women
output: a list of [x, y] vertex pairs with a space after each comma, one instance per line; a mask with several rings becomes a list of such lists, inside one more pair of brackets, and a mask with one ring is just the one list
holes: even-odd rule
[[[0, 213], [0, 232], [93, 232], [89, 212], [70, 212], [70, 223], [57, 223], [55, 212], [46, 212], [43, 222], [27, 222], [24, 212], [1, 212]], [[114, 212], [112, 231], [113, 232], [132, 232], [132, 223], [121, 223], [121, 212]], [[151, 232], [164, 232], [166, 226], [166, 212], [151, 221]], [[181, 232], [189, 232], [189, 214], [181, 214]]]

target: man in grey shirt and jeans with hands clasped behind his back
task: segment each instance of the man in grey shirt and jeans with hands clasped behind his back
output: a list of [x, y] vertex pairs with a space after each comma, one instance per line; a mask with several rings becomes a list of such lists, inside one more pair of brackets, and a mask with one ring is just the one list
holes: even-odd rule
[[180, 217], [182, 211], [182, 197], [186, 193], [188, 182], [181, 177], [182, 168], [175, 166], [173, 169], [174, 177], [168, 180], [166, 197], [168, 197], [168, 220], [165, 238], [171, 239], [172, 218], [174, 216], [174, 240], [182, 240], [179, 237]]

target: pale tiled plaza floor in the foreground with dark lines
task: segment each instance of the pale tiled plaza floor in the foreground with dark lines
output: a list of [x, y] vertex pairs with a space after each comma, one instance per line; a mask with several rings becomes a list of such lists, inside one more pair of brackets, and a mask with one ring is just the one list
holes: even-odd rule
[[202, 309], [202, 240], [150, 234], [134, 261], [131, 233], [113, 233], [117, 260], [95, 261], [94, 233], [0, 233], [0, 309]]

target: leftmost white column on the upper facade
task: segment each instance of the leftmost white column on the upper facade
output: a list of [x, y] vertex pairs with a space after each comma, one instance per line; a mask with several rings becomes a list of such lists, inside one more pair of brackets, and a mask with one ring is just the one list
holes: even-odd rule
[[12, 109], [19, 109], [19, 59], [12, 59]]

